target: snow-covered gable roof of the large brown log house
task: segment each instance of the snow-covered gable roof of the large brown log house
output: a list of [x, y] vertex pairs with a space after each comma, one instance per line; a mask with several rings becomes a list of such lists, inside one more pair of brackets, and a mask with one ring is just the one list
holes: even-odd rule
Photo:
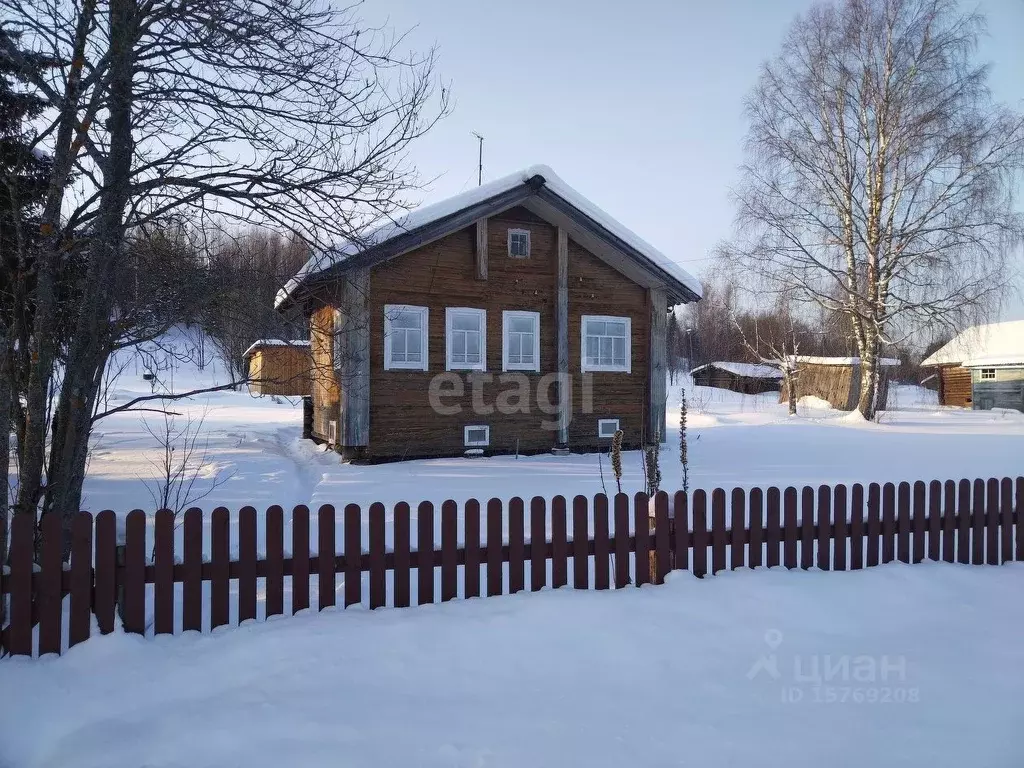
[[[554, 171], [536, 165], [409, 213], [371, 229], [358, 241], [315, 254], [278, 292], [283, 307], [312, 283], [355, 266], [370, 266], [469, 226], [517, 205], [538, 207], [573, 225], [575, 238], [601, 241], [626, 256], [633, 267], [666, 286], [670, 303], [696, 301], [700, 283], [679, 264], [591, 203]], [[676, 301], [672, 301], [675, 299]]]

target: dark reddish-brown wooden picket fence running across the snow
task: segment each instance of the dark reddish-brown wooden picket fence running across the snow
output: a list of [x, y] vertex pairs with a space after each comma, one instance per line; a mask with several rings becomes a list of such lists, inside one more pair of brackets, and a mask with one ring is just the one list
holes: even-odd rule
[[[409, 606], [413, 584], [419, 604], [459, 597], [460, 586], [462, 597], [521, 592], [527, 589], [527, 572], [530, 591], [565, 587], [570, 561], [572, 586], [597, 590], [660, 584], [673, 569], [703, 577], [726, 568], [760, 566], [851, 570], [894, 560], [998, 565], [1024, 560], [1022, 505], [1024, 477], [799, 490], [736, 488], [729, 494], [718, 488], [689, 496], [680, 492], [672, 499], [658, 493], [653, 505], [643, 494], [632, 499], [623, 494], [593, 500], [577, 496], [570, 504], [563, 497], [550, 503], [535, 497], [528, 515], [520, 498], [510, 500], [507, 509], [498, 499], [482, 506], [469, 500], [461, 509], [446, 501], [439, 510], [438, 548], [435, 509], [424, 502], [416, 510], [414, 548], [408, 504], [395, 505], [390, 520], [383, 504], [371, 505], [366, 542], [364, 510], [350, 504], [342, 516], [344, 554], [328, 557], [310, 554], [310, 513], [304, 506], [292, 512], [292, 548], [287, 555], [284, 510], [273, 506], [266, 511], [265, 552], [258, 556], [259, 516], [254, 508], [245, 507], [238, 516], [234, 559], [229, 513], [223, 507], [213, 510], [209, 520], [209, 557], [204, 555], [207, 542], [199, 509], [181, 518], [168, 510], [153, 518], [141, 510], [130, 512], [123, 543], [118, 541], [113, 512], [95, 517], [81, 512], [72, 525], [69, 563], [63, 560], [56, 516], [44, 516], [38, 526], [38, 560], [37, 526], [20, 516], [12, 520], [8, 566], [0, 570], [0, 595], [7, 608], [2, 642], [4, 652], [13, 655], [60, 653], [89, 638], [93, 618], [103, 634], [115, 630], [119, 616], [124, 631], [140, 634], [241, 623], [257, 617], [260, 580], [264, 617], [285, 612], [286, 589], [295, 613], [310, 607], [312, 575], [318, 580], [317, 603], [323, 609], [335, 605], [338, 574], [343, 578], [346, 607], [366, 600], [370, 608], [377, 608]], [[317, 511], [321, 552], [336, 549], [336, 518], [331, 505]], [[175, 551], [179, 519], [180, 558]], [[385, 546], [389, 524], [391, 548]], [[435, 595], [438, 568], [440, 594]], [[364, 574], [369, 577], [366, 593]]]

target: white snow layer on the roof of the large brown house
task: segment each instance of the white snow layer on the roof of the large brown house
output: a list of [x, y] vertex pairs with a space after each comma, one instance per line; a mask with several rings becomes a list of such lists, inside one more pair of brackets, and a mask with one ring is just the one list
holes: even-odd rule
[[433, 221], [451, 216], [466, 208], [478, 205], [490, 198], [514, 189], [519, 184], [526, 183], [535, 176], [541, 176], [544, 179], [544, 185], [548, 189], [646, 256], [651, 263], [664, 269], [694, 294], [700, 296], [700, 282], [692, 274], [587, 200], [587, 198], [559, 178], [551, 168], [546, 165], [534, 165], [522, 171], [488, 181], [485, 184], [468, 189], [438, 203], [416, 208], [394, 220], [386, 221], [379, 226], [371, 228], [358, 241], [349, 241], [313, 255], [296, 272], [295, 276], [288, 281], [285, 287], [278, 292], [278, 296], [274, 299], [274, 307], [280, 307], [284, 304], [299, 286], [302, 285], [306, 278], [323, 272], [336, 264], [342, 263], [350, 256], [354, 256], [373, 246], [385, 243], [402, 232], [426, 226]]

